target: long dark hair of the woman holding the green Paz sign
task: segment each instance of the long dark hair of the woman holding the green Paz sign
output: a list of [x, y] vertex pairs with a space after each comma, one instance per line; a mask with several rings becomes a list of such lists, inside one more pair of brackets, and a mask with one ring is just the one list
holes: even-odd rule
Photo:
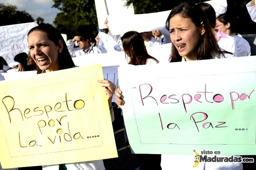
[[[175, 6], [165, 22], [165, 28], [168, 31], [170, 30], [170, 19], [177, 14], [180, 14], [183, 18], [190, 18], [197, 27], [201, 26], [201, 23], [204, 24], [205, 32], [203, 35], [199, 35], [200, 38], [197, 44], [197, 60], [212, 59], [212, 54], [215, 54], [217, 55], [217, 58], [220, 58], [220, 56], [225, 53], [224, 51], [220, 50], [220, 47], [215, 39], [212, 26], [210, 26], [204, 11], [198, 5], [192, 3], [182, 3]], [[169, 62], [180, 62], [181, 60], [182, 57], [179, 55], [178, 50], [172, 43], [172, 52]]]

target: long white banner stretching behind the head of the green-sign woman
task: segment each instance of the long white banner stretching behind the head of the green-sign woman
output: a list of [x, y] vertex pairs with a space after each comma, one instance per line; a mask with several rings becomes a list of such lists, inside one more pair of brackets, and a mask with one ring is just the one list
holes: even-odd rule
[[[206, 1], [214, 8], [216, 15], [220, 15], [227, 11], [226, 0]], [[108, 27], [113, 35], [124, 34], [128, 31], [147, 32], [153, 30], [165, 29], [165, 21], [170, 11], [162, 11], [148, 14], [134, 15], [109, 15]]]

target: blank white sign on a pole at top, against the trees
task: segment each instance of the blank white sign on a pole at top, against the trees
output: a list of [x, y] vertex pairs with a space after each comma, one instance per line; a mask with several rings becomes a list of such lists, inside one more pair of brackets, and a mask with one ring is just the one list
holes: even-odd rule
[[97, 12], [99, 29], [107, 28], [104, 24], [108, 15], [131, 15], [134, 14], [132, 6], [124, 6], [124, 0], [94, 0]]

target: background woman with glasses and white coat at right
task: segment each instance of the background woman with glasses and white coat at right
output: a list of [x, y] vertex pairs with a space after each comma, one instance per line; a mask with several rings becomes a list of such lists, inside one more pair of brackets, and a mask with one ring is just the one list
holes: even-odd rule
[[223, 33], [233, 37], [236, 41], [237, 47], [237, 57], [249, 56], [251, 55], [251, 47], [248, 41], [246, 41], [242, 35], [234, 33], [233, 27], [231, 25], [231, 19], [228, 14], [220, 14], [216, 18], [216, 27], [220, 29]]

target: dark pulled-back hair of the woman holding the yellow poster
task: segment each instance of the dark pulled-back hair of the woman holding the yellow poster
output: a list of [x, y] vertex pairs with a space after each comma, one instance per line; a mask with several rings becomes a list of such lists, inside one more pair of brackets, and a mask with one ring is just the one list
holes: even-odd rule
[[[67, 45], [66, 45], [63, 37], [61, 36], [60, 32], [56, 28], [54, 28], [50, 24], [39, 25], [39, 26], [36, 26], [36, 27], [32, 28], [31, 30], [29, 30], [28, 36], [33, 31], [42, 31], [42, 32], [46, 33], [48, 39], [51, 40], [52, 42], [54, 42], [54, 44], [56, 46], [59, 45], [60, 40], [63, 42], [62, 52], [59, 53], [59, 55], [58, 55], [60, 70], [69, 69], [69, 68], [72, 68], [73, 66], [75, 66], [75, 64], [68, 52]], [[37, 70], [37, 74], [42, 73], [42, 70], [37, 65], [36, 65], [36, 70]]]

